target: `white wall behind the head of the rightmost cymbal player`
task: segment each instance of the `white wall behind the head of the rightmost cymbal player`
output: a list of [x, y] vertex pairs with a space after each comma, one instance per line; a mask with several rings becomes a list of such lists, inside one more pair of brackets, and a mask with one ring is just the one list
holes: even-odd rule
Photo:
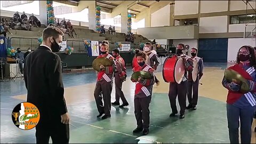
[[256, 46], [255, 38], [229, 38], [228, 39], [228, 62], [235, 62], [238, 50], [243, 45]]

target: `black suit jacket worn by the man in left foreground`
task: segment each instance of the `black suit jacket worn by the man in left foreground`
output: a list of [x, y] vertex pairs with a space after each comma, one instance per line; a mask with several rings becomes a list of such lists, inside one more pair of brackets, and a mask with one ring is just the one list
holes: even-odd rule
[[28, 54], [24, 65], [27, 102], [40, 112], [39, 124], [59, 121], [67, 113], [59, 55], [45, 46]]

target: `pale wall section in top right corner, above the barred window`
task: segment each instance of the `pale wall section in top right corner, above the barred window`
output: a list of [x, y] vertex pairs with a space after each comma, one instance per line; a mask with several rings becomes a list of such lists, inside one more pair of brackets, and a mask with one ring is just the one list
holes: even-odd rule
[[[256, 8], [256, 2], [249, 2], [253, 9]], [[247, 9], [252, 9], [249, 4], [247, 5]], [[243, 1], [230, 1], [230, 11], [237, 11], [237, 10], [246, 10], [246, 4]]]

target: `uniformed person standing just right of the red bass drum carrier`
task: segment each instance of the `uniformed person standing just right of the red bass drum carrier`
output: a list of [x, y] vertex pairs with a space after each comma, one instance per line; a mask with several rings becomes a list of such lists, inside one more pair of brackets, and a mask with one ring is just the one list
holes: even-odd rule
[[[196, 77], [195, 82], [193, 82], [192, 73], [188, 73], [187, 97], [188, 97], [189, 105], [186, 108], [187, 109], [192, 108], [193, 110], [196, 110], [196, 105], [198, 100], [198, 85], [199, 85], [199, 80], [203, 76], [203, 69], [204, 69], [203, 59], [197, 57], [197, 51], [198, 51], [197, 48], [195, 47], [191, 48], [192, 59], [196, 60], [198, 65], [198, 76]], [[192, 97], [192, 92], [193, 92], [193, 97]]]

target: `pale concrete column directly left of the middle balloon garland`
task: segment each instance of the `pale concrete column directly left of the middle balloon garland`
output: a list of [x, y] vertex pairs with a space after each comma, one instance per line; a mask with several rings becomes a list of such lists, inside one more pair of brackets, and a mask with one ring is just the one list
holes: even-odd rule
[[88, 1], [89, 4], [89, 29], [95, 31], [95, 8], [96, 8], [96, 1]]

